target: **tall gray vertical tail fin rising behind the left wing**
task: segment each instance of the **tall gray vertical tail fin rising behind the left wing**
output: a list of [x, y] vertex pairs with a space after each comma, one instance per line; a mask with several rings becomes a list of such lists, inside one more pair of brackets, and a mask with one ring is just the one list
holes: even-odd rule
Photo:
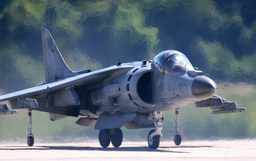
[[68, 68], [51, 34], [44, 27], [41, 28], [44, 52], [45, 81], [54, 82], [58, 79], [77, 75]]

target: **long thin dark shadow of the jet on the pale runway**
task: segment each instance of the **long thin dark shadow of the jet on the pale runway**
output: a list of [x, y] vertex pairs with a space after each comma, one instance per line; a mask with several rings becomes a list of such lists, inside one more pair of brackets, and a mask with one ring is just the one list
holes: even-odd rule
[[[7, 147], [7, 148], [6, 148]], [[13, 148], [12, 148], [13, 147]], [[0, 147], [1, 150], [84, 150], [84, 151], [156, 151], [156, 152], [168, 152], [168, 153], [189, 153], [187, 151], [170, 151], [163, 149], [177, 149], [177, 148], [216, 148], [214, 146], [160, 146], [157, 150], [152, 150], [148, 146], [139, 147], [120, 147], [120, 148], [97, 148], [97, 147], [80, 147], [80, 146], [4, 146]]]

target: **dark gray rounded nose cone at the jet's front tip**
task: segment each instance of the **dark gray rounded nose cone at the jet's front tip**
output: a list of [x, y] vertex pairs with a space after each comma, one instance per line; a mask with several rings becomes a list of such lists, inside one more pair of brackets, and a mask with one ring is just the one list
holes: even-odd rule
[[191, 85], [191, 93], [193, 96], [200, 100], [204, 100], [210, 98], [214, 93], [216, 93], [216, 83], [205, 77], [204, 75], [200, 75], [195, 77], [193, 83]]

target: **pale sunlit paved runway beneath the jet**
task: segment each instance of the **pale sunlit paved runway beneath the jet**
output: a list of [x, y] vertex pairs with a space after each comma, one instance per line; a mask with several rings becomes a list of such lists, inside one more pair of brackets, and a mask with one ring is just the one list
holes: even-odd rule
[[0, 144], [0, 160], [256, 160], [256, 141], [186, 141], [180, 146], [160, 142], [123, 142], [120, 148], [100, 148], [99, 142]]

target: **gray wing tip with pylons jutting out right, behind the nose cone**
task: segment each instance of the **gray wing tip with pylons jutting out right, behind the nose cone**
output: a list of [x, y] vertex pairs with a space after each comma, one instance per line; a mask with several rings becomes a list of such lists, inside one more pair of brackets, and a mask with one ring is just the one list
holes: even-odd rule
[[212, 110], [214, 110], [211, 112], [211, 114], [226, 114], [232, 112], [242, 112], [246, 110], [244, 107], [237, 108], [235, 102], [230, 102], [217, 95], [213, 95], [207, 100], [195, 102], [194, 104], [195, 107], [210, 107]]

